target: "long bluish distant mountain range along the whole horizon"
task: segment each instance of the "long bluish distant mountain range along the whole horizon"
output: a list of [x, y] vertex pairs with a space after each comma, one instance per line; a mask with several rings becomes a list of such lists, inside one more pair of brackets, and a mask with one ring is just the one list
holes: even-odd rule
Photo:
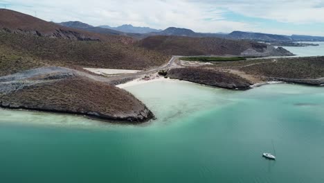
[[80, 21], [66, 21], [60, 23], [62, 26], [78, 28], [93, 33], [102, 33], [108, 35], [127, 35], [136, 38], [145, 38], [153, 35], [175, 35], [186, 37], [220, 37], [231, 40], [254, 40], [259, 42], [324, 42], [324, 37], [309, 35], [275, 35], [267, 33], [252, 33], [243, 31], [233, 31], [232, 33], [196, 33], [188, 28], [169, 27], [165, 30], [158, 30], [149, 27], [136, 27], [132, 25], [123, 25], [118, 27], [111, 26], [91, 26]]

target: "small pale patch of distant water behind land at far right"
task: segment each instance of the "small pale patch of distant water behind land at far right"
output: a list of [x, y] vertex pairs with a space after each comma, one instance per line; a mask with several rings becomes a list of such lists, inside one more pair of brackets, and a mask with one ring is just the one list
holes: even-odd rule
[[306, 46], [306, 47], [284, 46], [284, 48], [299, 57], [311, 57], [311, 56], [324, 55], [324, 42], [305, 42], [305, 43], [314, 43], [314, 44], [319, 44], [320, 46]]

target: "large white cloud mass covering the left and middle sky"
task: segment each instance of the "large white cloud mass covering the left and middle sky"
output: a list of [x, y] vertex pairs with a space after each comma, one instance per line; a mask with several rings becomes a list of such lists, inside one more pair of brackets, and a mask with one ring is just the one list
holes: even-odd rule
[[[208, 3], [186, 0], [92, 0], [92, 1], [36, 1], [12, 0], [14, 10], [35, 15], [47, 21], [78, 20], [95, 26], [108, 24], [120, 26], [152, 26], [167, 28], [177, 26], [199, 32], [231, 31], [248, 28], [248, 24], [226, 21], [223, 10], [211, 8]], [[19, 6], [18, 6], [19, 5]], [[26, 5], [31, 7], [25, 7]]]

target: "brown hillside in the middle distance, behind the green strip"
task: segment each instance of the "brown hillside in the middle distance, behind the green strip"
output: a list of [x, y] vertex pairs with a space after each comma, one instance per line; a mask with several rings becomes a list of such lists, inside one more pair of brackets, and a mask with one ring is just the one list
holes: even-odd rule
[[247, 49], [262, 51], [266, 44], [217, 37], [152, 36], [138, 42], [145, 49], [168, 55], [240, 55]]

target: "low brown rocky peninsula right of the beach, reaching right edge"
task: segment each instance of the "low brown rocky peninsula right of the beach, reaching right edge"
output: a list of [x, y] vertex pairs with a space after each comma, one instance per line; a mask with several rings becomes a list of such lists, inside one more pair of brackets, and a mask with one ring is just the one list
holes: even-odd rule
[[249, 89], [253, 84], [273, 81], [324, 85], [324, 57], [205, 63], [179, 62], [180, 68], [170, 69], [168, 77], [226, 89]]

